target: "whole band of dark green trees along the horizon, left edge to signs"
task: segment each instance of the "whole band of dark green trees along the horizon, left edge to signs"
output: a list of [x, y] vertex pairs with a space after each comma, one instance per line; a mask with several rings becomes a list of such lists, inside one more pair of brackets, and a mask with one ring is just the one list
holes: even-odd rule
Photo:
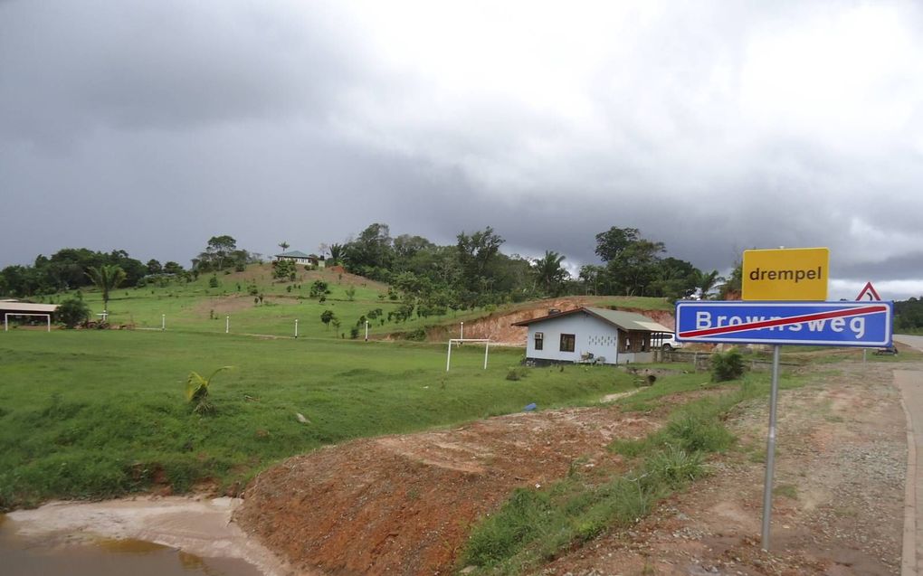
[[[689, 262], [665, 256], [664, 243], [643, 238], [638, 229], [613, 227], [596, 234], [595, 240], [601, 264], [582, 266], [576, 277], [570, 275], [567, 258], [561, 253], [546, 250], [544, 256], [529, 259], [501, 252], [505, 241], [489, 226], [462, 231], [454, 245], [439, 246], [421, 236], [392, 238], [387, 224], [374, 223], [351, 241], [322, 244], [321, 249], [329, 254], [328, 266], [342, 264], [348, 272], [390, 285], [387, 299], [398, 307], [391, 311], [398, 322], [414, 315], [426, 318], [577, 294], [676, 300], [693, 294], [709, 295], [721, 280], [716, 271], [703, 272]], [[288, 246], [288, 242], [282, 245]], [[66, 248], [50, 257], [38, 256], [32, 266], [6, 266], [0, 271], [0, 296], [54, 301], [55, 295], [95, 284], [102, 290], [103, 300], [108, 300], [117, 286], [189, 285], [200, 275], [209, 275], [208, 288], [221, 288], [227, 294], [222, 276], [243, 272], [247, 264], [259, 261], [259, 254], [239, 249], [234, 237], [226, 234], [212, 236], [205, 250], [191, 259], [188, 270], [175, 262], [161, 264], [155, 259], [142, 264], [123, 250], [99, 253]], [[312, 268], [274, 262], [270, 282], [286, 283], [287, 291], [294, 293], [302, 273]], [[112, 274], [104, 278], [101, 271]], [[119, 279], [114, 285], [103, 281], [114, 275]], [[254, 284], [236, 288], [237, 292], [246, 289], [260, 304], [266, 290]], [[310, 297], [323, 302], [327, 294], [312, 292]], [[354, 292], [346, 296], [350, 301], [355, 298]]]

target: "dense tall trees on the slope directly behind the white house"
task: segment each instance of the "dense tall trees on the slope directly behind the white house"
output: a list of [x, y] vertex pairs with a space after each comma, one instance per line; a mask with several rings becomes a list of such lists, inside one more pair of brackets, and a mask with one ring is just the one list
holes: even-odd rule
[[454, 245], [440, 246], [422, 236], [391, 237], [387, 224], [374, 223], [353, 240], [325, 248], [329, 264], [343, 264], [437, 308], [574, 294], [677, 300], [708, 295], [724, 281], [717, 271], [665, 256], [664, 243], [643, 238], [639, 229], [612, 227], [595, 240], [601, 262], [581, 266], [577, 276], [565, 266], [566, 256], [555, 251], [539, 258], [502, 253], [505, 241], [489, 226], [462, 231]]

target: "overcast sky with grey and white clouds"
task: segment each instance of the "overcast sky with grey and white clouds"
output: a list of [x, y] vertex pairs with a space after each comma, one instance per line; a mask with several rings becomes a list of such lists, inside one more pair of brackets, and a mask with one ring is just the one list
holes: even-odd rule
[[372, 222], [579, 265], [617, 226], [722, 271], [829, 246], [831, 298], [903, 300], [921, 54], [913, 1], [0, 0], [0, 267]]

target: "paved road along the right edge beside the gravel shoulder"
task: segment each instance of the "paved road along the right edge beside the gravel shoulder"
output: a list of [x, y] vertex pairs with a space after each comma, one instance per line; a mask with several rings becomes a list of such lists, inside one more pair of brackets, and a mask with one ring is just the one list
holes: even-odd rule
[[[923, 351], [923, 336], [894, 335], [894, 340]], [[917, 576], [917, 567], [923, 567], [923, 372], [894, 370], [894, 383], [904, 397], [907, 417], [907, 488], [901, 576]]]

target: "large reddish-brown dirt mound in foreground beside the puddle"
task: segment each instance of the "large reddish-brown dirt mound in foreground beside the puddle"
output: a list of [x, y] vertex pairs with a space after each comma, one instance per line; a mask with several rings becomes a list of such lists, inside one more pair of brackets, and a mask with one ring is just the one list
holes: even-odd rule
[[352, 441], [258, 476], [235, 520], [302, 570], [434, 574], [513, 488], [545, 486], [582, 456], [581, 466], [617, 467], [605, 445], [654, 426], [616, 407], [583, 408]]

